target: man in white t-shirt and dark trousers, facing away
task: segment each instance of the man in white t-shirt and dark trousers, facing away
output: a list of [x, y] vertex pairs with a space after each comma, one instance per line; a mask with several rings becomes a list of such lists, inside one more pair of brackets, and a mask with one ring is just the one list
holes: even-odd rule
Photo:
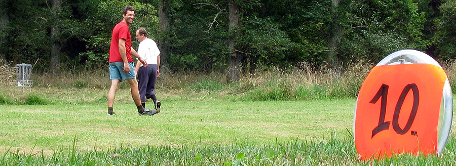
[[157, 77], [160, 76], [160, 50], [153, 39], [147, 38], [147, 31], [144, 28], [136, 30], [136, 39], [140, 42], [138, 47], [139, 57], [147, 62], [147, 66], [143, 67], [142, 63], [138, 61], [139, 63], [135, 67], [141, 104], [144, 107], [146, 99], [152, 99], [155, 104], [155, 110], [159, 113], [161, 103], [155, 96], [155, 83]]

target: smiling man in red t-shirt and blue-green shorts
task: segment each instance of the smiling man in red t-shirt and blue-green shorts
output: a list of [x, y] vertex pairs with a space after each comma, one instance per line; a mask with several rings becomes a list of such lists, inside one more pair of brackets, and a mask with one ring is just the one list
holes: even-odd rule
[[131, 6], [126, 6], [122, 12], [123, 19], [112, 29], [111, 46], [109, 49], [109, 79], [111, 87], [107, 95], [108, 100], [108, 115], [115, 114], [112, 106], [114, 98], [119, 89], [120, 82], [127, 79], [131, 88], [131, 96], [138, 108], [139, 115], [153, 115], [154, 111], [150, 111], [141, 105], [141, 99], [138, 91], [138, 81], [135, 76], [135, 67], [131, 55], [139, 58], [139, 61], [147, 66], [144, 59], [140, 58], [138, 53], [131, 47], [131, 35], [128, 26], [135, 19], [135, 10]]

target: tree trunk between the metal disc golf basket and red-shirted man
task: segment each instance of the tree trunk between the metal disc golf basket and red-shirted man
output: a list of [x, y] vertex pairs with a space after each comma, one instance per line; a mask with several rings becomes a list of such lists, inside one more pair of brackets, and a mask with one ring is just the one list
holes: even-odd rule
[[51, 25], [51, 68], [60, 68], [60, 6], [61, 0], [52, 1], [53, 23]]

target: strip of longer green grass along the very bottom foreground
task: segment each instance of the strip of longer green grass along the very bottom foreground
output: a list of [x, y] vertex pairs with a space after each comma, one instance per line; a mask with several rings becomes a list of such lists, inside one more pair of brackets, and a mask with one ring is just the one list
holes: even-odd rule
[[[452, 138], [452, 137], [451, 137]], [[449, 148], [454, 139], [449, 140]], [[107, 151], [83, 151], [74, 139], [68, 150], [43, 152], [8, 151], [0, 165], [454, 165], [454, 153], [441, 156], [396, 154], [384, 159], [359, 160], [350, 136], [327, 141], [294, 140], [270, 145], [235, 143], [228, 146], [193, 144], [164, 146], [117, 146]]]

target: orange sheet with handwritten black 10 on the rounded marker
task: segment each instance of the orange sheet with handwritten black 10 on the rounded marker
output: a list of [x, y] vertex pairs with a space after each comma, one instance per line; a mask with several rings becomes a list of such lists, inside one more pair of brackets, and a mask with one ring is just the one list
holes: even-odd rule
[[361, 159], [393, 153], [437, 153], [446, 74], [432, 64], [375, 66], [361, 86], [355, 145]]

